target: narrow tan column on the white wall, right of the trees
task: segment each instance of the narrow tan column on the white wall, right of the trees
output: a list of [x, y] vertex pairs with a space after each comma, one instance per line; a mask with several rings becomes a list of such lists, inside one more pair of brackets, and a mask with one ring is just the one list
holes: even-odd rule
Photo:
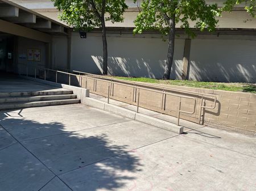
[[191, 39], [185, 39], [182, 79], [188, 79]]

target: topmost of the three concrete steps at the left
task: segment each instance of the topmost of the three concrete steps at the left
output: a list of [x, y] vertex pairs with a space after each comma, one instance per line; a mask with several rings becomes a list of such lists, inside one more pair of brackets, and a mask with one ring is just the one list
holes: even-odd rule
[[0, 92], [0, 97], [18, 97], [18, 96], [43, 96], [43, 95], [67, 95], [73, 94], [71, 90], [55, 91], [35, 91], [35, 92]]

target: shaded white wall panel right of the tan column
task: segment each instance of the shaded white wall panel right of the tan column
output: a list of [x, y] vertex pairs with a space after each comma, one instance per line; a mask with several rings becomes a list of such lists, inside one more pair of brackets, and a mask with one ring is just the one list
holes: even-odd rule
[[192, 40], [189, 79], [255, 83], [256, 41]]

